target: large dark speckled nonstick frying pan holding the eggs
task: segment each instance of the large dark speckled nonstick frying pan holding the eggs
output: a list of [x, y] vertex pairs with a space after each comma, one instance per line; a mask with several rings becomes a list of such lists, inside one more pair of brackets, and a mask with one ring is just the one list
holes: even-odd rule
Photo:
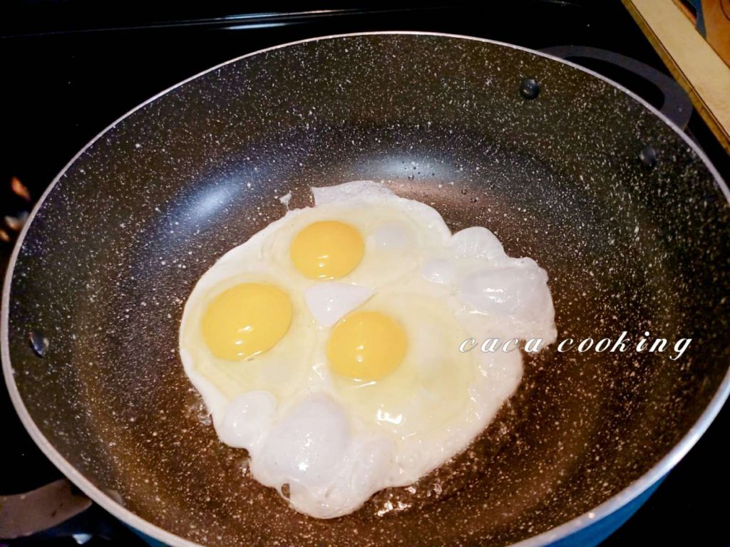
[[[415, 494], [296, 513], [218, 441], [177, 329], [199, 276], [285, 213], [278, 196], [307, 206], [309, 187], [356, 179], [534, 257], [558, 338], [691, 345], [677, 360], [553, 346]], [[274, 47], [155, 96], [61, 171], [11, 259], [5, 379], [55, 465], [171, 545], [595, 543], [728, 395], [728, 197], [669, 120], [571, 63], [439, 34]]]

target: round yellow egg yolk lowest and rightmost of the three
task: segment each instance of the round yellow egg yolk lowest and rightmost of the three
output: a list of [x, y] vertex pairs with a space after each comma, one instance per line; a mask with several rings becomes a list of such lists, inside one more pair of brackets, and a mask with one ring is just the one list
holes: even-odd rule
[[332, 329], [327, 358], [335, 373], [373, 381], [400, 365], [406, 345], [406, 333], [394, 319], [377, 311], [356, 311]]

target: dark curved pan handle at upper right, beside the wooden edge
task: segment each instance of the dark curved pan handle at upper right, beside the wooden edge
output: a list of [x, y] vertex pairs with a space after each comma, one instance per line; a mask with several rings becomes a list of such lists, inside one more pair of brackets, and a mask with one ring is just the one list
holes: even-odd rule
[[631, 57], [626, 57], [626, 55], [601, 50], [597, 47], [566, 45], [546, 47], [540, 51], [563, 59], [587, 58], [604, 61], [604, 63], [618, 66], [621, 69], [642, 77], [655, 85], [664, 96], [664, 104], [661, 105], [659, 111], [668, 117], [669, 120], [672, 120], [678, 127], [682, 128], [683, 131], [687, 128], [689, 118], [692, 115], [692, 101], [687, 93], [685, 93], [685, 90], [672, 77], [667, 76], [664, 72], [658, 71], [653, 66], [649, 66]]

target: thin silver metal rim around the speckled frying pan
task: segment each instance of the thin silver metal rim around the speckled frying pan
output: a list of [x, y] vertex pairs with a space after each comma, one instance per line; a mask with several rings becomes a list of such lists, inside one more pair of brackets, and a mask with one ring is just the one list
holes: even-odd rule
[[[715, 183], [718, 185], [718, 188], [721, 190], [723, 195], [726, 198], [726, 201], [730, 203], [730, 190], [728, 189], [726, 183], [723, 181], [722, 177], [720, 176], [719, 172], [715, 168], [715, 166], [712, 165], [710, 162], [710, 159], [707, 158], [707, 155], [704, 153], [704, 151], [696, 144], [694, 141], [692, 141], [687, 134], [682, 131], [675, 123], [672, 122], [672, 120], [669, 120], [668, 117], [666, 117], [664, 114], [659, 112], [658, 109], [656, 109], [654, 106], [649, 104], [647, 101], [645, 101], [643, 98], [637, 96], [636, 93], [632, 92], [629, 89], [624, 88], [622, 85], [618, 84], [617, 82], [613, 82], [611, 79], [608, 79], [607, 77], [604, 77], [602, 74], [597, 73], [596, 71], [592, 71], [590, 69], [585, 69], [583, 66], [578, 65], [577, 63], [572, 63], [571, 61], [566, 61], [565, 59], [558, 58], [554, 55], [549, 55], [547, 53], [542, 53], [537, 50], [531, 50], [528, 47], [522, 47], [518, 46], [516, 44], [508, 44], [506, 42], [499, 42], [498, 40], [492, 40], [487, 38], [480, 38], [477, 36], [466, 36], [461, 34], [448, 34], [448, 33], [441, 33], [441, 32], [427, 32], [427, 31], [373, 31], [373, 32], [354, 32], [354, 33], [347, 33], [347, 34], [330, 34], [326, 36], [315, 36], [313, 38], [307, 38], [307, 39], [301, 39], [296, 40], [295, 42], [287, 42], [285, 44], [278, 44], [274, 45], [272, 47], [266, 47], [262, 50], [256, 50], [251, 53], [246, 53], [245, 55], [239, 55], [236, 58], [229, 59], [228, 61], [224, 61], [223, 63], [219, 63], [215, 66], [210, 67], [209, 69], [205, 69], [204, 71], [201, 71], [197, 74], [194, 74], [191, 77], [188, 77], [186, 79], [183, 79], [180, 82], [177, 82], [176, 84], [170, 86], [169, 88], [166, 88], [165, 90], [162, 90], [159, 93], [156, 93], [154, 96], [148, 98], [146, 101], [138, 104], [137, 106], [134, 106], [131, 110], [126, 112], [124, 115], [120, 116], [117, 120], [112, 122], [110, 125], [108, 125], [106, 128], [104, 128], [98, 135], [93, 137], [91, 141], [88, 141], [87, 144], [85, 144], [84, 147], [82, 147], [79, 152], [77, 152], [74, 157], [69, 160], [68, 163], [64, 166], [64, 168], [59, 171], [59, 173], [55, 176], [53, 181], [50, 183], [50, 185], [46, 188], [45, 192], [41, 195], [37, 203], [35, 204], [34, 208], [32, 209], [31, 213], [28, 215], [28, 220], [26, 224], [23, 226], [23, 230], [20, 232], [20, 236], [18, 236], [18, 241], [15, 242], [15, 247], [12, 250], [12, 255], [10, 255], [10, 260], [8, 262], [7, 266], [7, 272], [5, 274], [4, 278], [4, 284], [3, 284], [3, 290], [2, 290], [2, 299], [0, 302], [1, 306], [1, 314], [0, 314], [0, 358], [2, 361], [2, 368], [3, 368], [3, 375], [5, 379], [5, 384], [7, 386], [10, 399], [12, 400], [12, 405], [15, 408], [15, 412], [20, 417], [20, 421], [23, 423], [23, 427], [26, 428], [26, 431], [28, 431], [28, 434], [31, 436], [33, 441], [37, 444], [39, 449], [45, 454], [45, 456], [50, 459], [51, 462], [58, 468], [58, 470], [61, 470], [61, 473], [64, 474], [69, 480], [71, 480], [76, 486], [78, 486], [79, 489], [82, 490], [88, 497], [90, 497], [94, 502], [101, 505], [104, 510], [111, 513], [116, 518], [120, 519], [121, 521], [128, 524], [130, 527], [134, 527], [134, 529], [137, 529], [139, 532], [142, 532], [145, 535], [148, 535], [152, 538], [155, 538], [156, 540], [163, 541], [164, 543], [167, 543], [171, 546], [184, 546], [184, 547], [204, 547], [200, 543], [195, 543], [191, 540], [186, 540], [185, 538], [181, 538], [178, 535], [175, 535], [172, 532], [168, 532], [166, 529], [163, 529], [161, 527], [158, 527], [156, 524], [152, 524], [151, 522], [142, 519], [142, 517], [138, 516], [136, 513], [133, 513], [132, 511], [128, 510], [126, 507], [121, 505], [120, 503], [117, 503], [115, 500], [112, 500], [112, 498], [103, 492], [101, 489], [99, 489], [97, 486], [95, 486], [88, 478], [85, 478], [76, 468], [74, 468], [73, 465], [71, 465], [59, 452], [55, 449], [55, 447], [50, 443], [50, 441], [45, 438], [45, 435], [41, 432], [37, 424], [34, 422], [34, 420], [31, 418], [31, 415], [28, 413], [28, 410], [25, 406], [25, 403], [23, 403], [22, 397], [20, 396], [20, 391], [18, 389], [18, 385], [15, 383], [15, 376], [12, 370], [12, 363], [10, 361], [10, 353], [9, 353], [9, 302], [10, 302], [10, 290], [11, 290], [11, 284], [12, 284], [12, 278], [13, 274], [15, 273], [15, 263], [18, 259], [18, 255], [20, 252], [20, 248], [23, 246], [23, 241], [26, 238], [26, 234], [28, 233], [28, 230], [34, 220], [34, 217], [36, 216], [37, 212], [39, 212], [39, 209], [41, 209], [43, 203], [45, 202], [45, 199], [47, 196], [53, 191], [53, 188], [58, 183], [58, 181], [61, 179], [64, 174], [66, 174], [66, 171], [75, 163], [75, 161], [80, 158], [82, 154], [88, 150], [89, 147], [93, 146], [93, 144], [96, 143], [96, 141], [99, 141], [102, 136], [104, 136], [107, 131], [110, 131], [112, 128], [114, 128], [118, 123], [125, 120], [127, 117], [132, 115], [134, 112], [137, 112], [137, 110], [142, 109], [142, 107], [146, 106], [147, 104], [150, 104], [151, 102], [157, 100], [161, 96], [164, 96], [166, 93], [169, 93], [170, 91], [179, 88], [188, 82], [191, 82], [193, 79], [197, 79], [201, 76], [204, 76], [204, 74], [208, 74], [209, 72], [215, 71], [220, 69], [223, 66], [226, 66], [231, 63], [236, 63], [237, 61], [240, 61], [247, 57], [252, 57], [253, 55], [258, 55], [260, 53], [266, 53], [273, 50], [279, 50], [283, 49], [285, 47], [291, 47], [299, 44], [305, 44], [308, 42], [319, 42], [323, 40], [331, 40], [331, 39], [340, 39], [340, 38], [347, 38], [347, 37], [355, 37], [355, 36], [378, 36], [378, 35], [405, 35], [405, 36], [440, 36], [445, 38], [456, 38], [456, 39], [464, 39], [464, 40], [470, 40], [473, 42], [483, 42], [488, 44], [495, 44], [502, 47], [509, 47], [513, 50], [520, 50], [525, 53], [530, 53], [532, 55], [537, 55], [538, 57], [542, 58], [548, 58], [552, 61], [556, 61], [558, 63], [563, 63], [568, 66], [571, 66], [574, 69], [578, 69], [580, 71], [583, 71], [587, 74], [590, 74], [593, 77], [596, 77], [598, 79], [601, 79], [603, 82], [606, 82], [609, 85], [612, 85], [614, 88], [617, 88], [618, 90], [621, 90], [623, 93], [628, 95], [629, 97], [633, 98], [634, 101], [637, 101], [639, 104], [642, 104], [646, 109], [648, 109], [650, 112], [653, 113], [656, 117], [658, 117], [660, 120], [662, 120], [666, 125], [669, 125], [670, 128], [672, 128], [675, 133], [679, 134], [682, 139], [684, 139], [685, 143], [688, 144], [688, 146], [693, 150], [696, 155], [699, 156], [699, 158], [702, 160], [705, 166], [707, 166], [708, 170], [710, 171], [710, 174], [715, 179]], [[596, 505], [591, 511], [588, 511], [586, 513], [583, 513], [580, 516], [576, 516], [575, 518], [566, 521], [562, 524], [559, 524], [558, 526], [548, 529], [545, 532], [542, 532], [538, 535], [534, 535], [531, 538], [527, 538], [525, 540], [521, 540], [518, 543], [512, 543], [512, 547], [539, 547], [539, 546], [545, 546], [549, 543], [552, 543], [556, 540], [560, 540], [562, 538], [566, 538], [569, 535], [574, 534], [575, 532], [579, 532], [581, 529], [585, 529], [590, 524], [593, 524], [594, 522], [600, 521], [604, 519], [607, 516], [610, 516], [612, 513], [615, 513], [620, 508], [622, 508], [625, 505], [628, 505], [631, 503], [632, 500], [639, 497], [642, 493], [644, 493], [647, 489], [650, 488], [650, 486], [653, 486], [653, 484], [656, 484], [656, 482], [664, 477], [666, 473], [669, 473], [672, 468], [677, 465], [680, 460], [685, 457], [685, 455], [688, 453], [688, 451], [694, 446], [694, 444], [699, 440], [699, 438], [702, 436], [702, 434], [707, 430], [707, 427], [710, 426], [710, 423], [712, 423], [712, 420], [715, 419], [715, 416], [718, 415], [721, 408], [723, 407], [723, 404], [727, 400], [728, 396], [730, 395], [730, 367], [728, 371], [726, 372], [723, 381], [721, 381], [720, 386], [718, 387], [717, 392], [715, 392], [715, 395], [712, 396], [712, 400], [710, 400], [710, 403], [707, 404], [707, 407], [702, 411], [702, 414], [699, 416], [699, 418], [696, 420], [696, 422], [690, 427], [690, 429], [685, 433], [683, 438], [680, 439], [678, 443], [675, 444], [675, 446], [672, 447], [672, 449], [669, 450], [667, 454], [664, 455], [658, 462], [656, 462], [655, 465], [653, 465], [652, 468], [650, 468], [646, 473], [644, 473], [642, 476], [631, 482], [626, 488], [621, 490], [621, 492], [618, 492], [614, 494], [612, 497], [610, 497], [608, 500], [605, 500], [603, 503]]]

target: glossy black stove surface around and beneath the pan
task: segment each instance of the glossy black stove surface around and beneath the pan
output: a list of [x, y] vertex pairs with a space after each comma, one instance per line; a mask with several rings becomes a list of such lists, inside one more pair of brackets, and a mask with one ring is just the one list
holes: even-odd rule
[[[99, 131], [161, 90], [230, 58], [294, 40], [356, 31], [415, 30], [465, 34], [525, 47], [574, 44], [599, 47], [664, 71], [652, 47], [618, 2], [493, 2], [485, 10], [464, 6], [415, 8], [390, 2], [368, 8], [300, 8], [298, 12], [231, 2], [183, 7], [139, 1], [12, 1], [0, 15], [3, 75], [0, 131], [0, 268], [4, 271], [18, 220], [55, 174]], [[0, 11], [1, 13], [1, 11]], [[576, 60], [580, 62], [580, 60]], [[621, 82], [655, 106], [661, 93], [626, 71], [599, 61], [586, 66]], [[688, 132], [730, 181], [730, 158], [698, 115]], [[15, 179], [15, 185], [11, 182]], [[28, 196], [17, 182], [27, 188]], [[15, 187], [15, 192], [12, 190]], [[7, 239], [9, 241], [2, 241]], [[0, 392], [3, 461], [0, 494], [26, 492], [61, 477], [28, 437], [4, 389]], [[606, 547], [656, 543], [730, 545], [727, 523], [730, 473], [726, 406], [648, 503]], [[142, 541], [115, 526], [99, 508], [84, 517], [96, 537], [47, 537], [28, 545], [134, 546]], [[110, 522], [111, 521], [111, 522]], [[55, 535], [63, 535], [61, 530]], [[111, 536], [107, 540], [101, 536]], [[0, 543], [1, 546], [1, 543]]]

